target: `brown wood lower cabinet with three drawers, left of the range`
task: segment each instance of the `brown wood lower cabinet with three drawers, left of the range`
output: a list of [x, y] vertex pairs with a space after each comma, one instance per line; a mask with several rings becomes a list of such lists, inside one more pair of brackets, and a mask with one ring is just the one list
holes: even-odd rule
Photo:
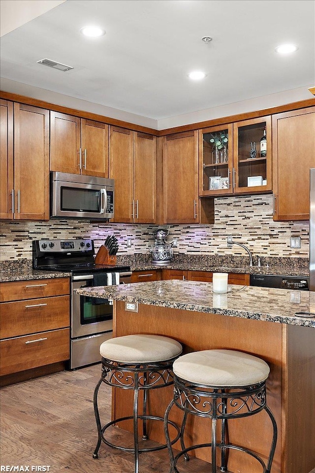
[[[26, 370], [69, 359], [69, 278], [3, 282], [0, 300], [1, 384], [22, 380]], [[53, 371], [62, 369], [60, 363]], [[3, 382], [13, 373], [21, 373], [21, 379]], [[35, 376], [28, 372], [28, 377]]]

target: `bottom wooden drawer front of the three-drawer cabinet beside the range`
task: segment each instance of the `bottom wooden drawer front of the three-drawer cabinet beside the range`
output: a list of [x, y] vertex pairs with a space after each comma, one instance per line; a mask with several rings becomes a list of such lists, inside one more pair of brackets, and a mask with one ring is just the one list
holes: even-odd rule
[[30, 370], [70, 358], [69, 329], [0, 341], [0, 375]]

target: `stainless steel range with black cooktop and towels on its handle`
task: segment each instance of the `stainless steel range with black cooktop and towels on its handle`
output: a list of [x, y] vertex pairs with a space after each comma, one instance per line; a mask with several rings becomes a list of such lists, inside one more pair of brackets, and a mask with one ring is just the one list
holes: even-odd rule
[[74, 288], [131, 282], [129, 266], [95, 265], [92, 239], [35, 240], [33, 268], [71, 273], [70, 369], [100, 361], [100, 344], [113, 334], [113, 305], [73, 294]]

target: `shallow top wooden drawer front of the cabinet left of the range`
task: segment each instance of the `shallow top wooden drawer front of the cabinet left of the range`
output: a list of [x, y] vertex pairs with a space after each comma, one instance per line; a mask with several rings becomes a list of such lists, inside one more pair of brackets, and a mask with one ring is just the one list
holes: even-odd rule
[[0, 302], [22, 301], [70, 294], [70, 278], [36, 279], [30, 281], [2, 282]]

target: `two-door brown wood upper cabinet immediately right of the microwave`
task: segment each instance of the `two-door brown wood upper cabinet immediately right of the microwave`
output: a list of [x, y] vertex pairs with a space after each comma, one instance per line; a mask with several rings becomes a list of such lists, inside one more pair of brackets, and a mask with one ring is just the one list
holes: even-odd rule
[[110, 127], [109, 177], [115, 179], [113, 222], [156, 222], [156, 137]]

